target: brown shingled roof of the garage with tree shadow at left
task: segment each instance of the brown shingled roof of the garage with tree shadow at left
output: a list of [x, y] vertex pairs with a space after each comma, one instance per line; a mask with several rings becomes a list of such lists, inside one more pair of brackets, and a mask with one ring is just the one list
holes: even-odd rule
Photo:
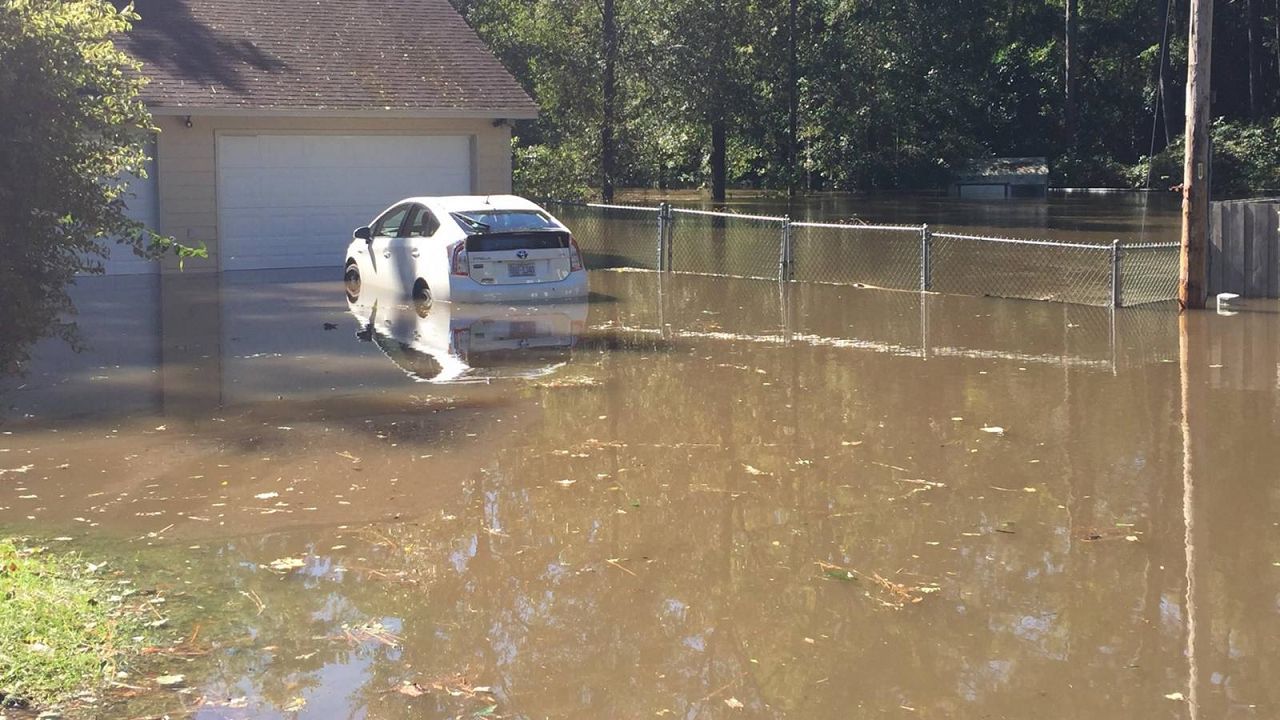
[[538, 106], [448, 0], [138, 0], [123, 47], [156, 109], [476, 113]]

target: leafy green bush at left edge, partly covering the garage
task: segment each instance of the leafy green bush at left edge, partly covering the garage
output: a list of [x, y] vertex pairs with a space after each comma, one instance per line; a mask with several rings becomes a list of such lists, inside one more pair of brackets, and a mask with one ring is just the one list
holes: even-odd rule
[[198, 254], [125, 215], [155, 128], [138, 64], [111, 42], [136, 19], [108, 0], [0, 0], [0, 372], [72, 311], [65, 286], [100, 273], [108, 241]]

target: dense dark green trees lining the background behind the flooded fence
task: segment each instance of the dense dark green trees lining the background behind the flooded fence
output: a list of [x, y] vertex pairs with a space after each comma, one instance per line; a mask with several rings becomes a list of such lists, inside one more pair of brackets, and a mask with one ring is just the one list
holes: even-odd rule
[[[543, 109], [526, 192], [933, 188], [1024, 155], [1181, 181], [1189, 0], [454, 3]], [[1217, 190], [1280, 187], [1280, 0], [1215, 13]]]

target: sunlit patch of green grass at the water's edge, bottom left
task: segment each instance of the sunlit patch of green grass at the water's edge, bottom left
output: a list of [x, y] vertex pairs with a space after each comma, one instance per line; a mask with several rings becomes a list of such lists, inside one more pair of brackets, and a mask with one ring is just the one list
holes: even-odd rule
[[0, 541], [0, 694], [47, 707], [101, 689], [147, 629], [120, 591], [78, 555]]

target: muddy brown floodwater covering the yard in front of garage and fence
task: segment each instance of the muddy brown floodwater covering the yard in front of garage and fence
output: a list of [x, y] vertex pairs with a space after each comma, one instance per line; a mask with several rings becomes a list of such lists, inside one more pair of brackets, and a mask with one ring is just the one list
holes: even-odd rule
[[0, 529], [197, 651], [96, 715], [1280, 715], [1280, 307], [593, 290], [82, 281], [86, 350], [0, 382]]

